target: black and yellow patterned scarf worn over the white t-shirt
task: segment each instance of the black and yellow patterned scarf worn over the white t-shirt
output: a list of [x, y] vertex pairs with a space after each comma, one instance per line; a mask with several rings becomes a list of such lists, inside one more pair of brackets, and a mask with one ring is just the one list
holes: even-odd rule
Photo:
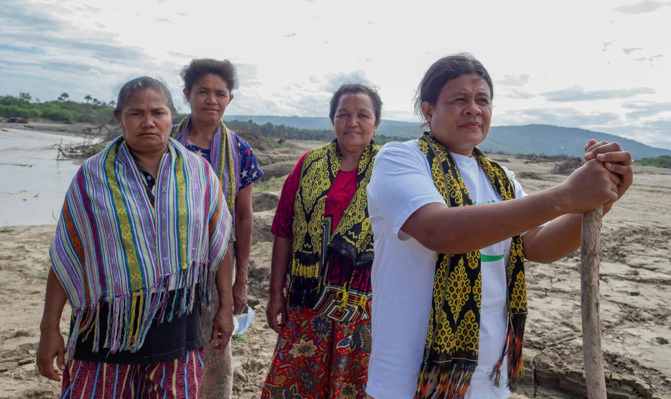
[[[424, 133], [419, 150], [427, 157], [438, 192], [448, 207], [472, 205], [454, 158], [433, 135]], [[503, 201], [515, 198], [515, 187], [505, 170], [478, 148], [473, 156]], [[503, 359], [508, 359], [507, 386], [517, 388], [522, 373], [522, 339], [527, 318], [522, 237], [513, 237], [507, 266], [508, 327], [505, 345], [490, 379], [499, 386]], [[437, 253], [433, 300], [426, 345], [415, 398], [461, 399], [478, 365], [482, 275], [480, 251]]]

